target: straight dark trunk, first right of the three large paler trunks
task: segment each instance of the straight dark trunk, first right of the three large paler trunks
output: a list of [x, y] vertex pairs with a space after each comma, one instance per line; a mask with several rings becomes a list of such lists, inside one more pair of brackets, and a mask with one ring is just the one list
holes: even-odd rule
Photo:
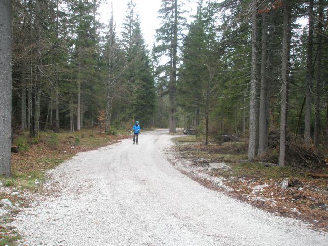
[[306, 59], [306, 90], [305, 90], [305, 127], [304, 145], [311, 145], [311, 86], [312, 86], [312, 42], [313, 42], [313, 0], [309, 1], [309, 35], [308, 58]]

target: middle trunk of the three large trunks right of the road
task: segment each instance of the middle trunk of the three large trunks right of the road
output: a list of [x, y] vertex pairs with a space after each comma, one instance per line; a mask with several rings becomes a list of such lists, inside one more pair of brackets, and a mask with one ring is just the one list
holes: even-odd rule
[[259, 117], [259, 146], [258, 155], [264, 154], [268, 148], [268, 122], [267, 122], [267, 13], [262, 14], [262, 63], [261, 63], [261, 92], [260, 92], [260, 117]]

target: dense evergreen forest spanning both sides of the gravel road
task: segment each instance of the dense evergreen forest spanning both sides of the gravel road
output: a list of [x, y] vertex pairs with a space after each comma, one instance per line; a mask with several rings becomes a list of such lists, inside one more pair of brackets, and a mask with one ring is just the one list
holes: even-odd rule
[[99, 22], [101, 0], [2, 2], [0, 20], [12, 25], [0, 29], [2, 59], [12, 50], [0, 72], [9, 132], [37, 141], [44, 130], [110, 132], [139, 120], [170, 133], [196, 129], [205, 145], [245, 137], [248, 161], [270, 152], [283, 166], [291, 146], [326, 151], [326, 0], [198, 0], [192, 16], [189, 1], [162, 0], [152, 47], [133, 0], [120, 33], [115, 9]]

